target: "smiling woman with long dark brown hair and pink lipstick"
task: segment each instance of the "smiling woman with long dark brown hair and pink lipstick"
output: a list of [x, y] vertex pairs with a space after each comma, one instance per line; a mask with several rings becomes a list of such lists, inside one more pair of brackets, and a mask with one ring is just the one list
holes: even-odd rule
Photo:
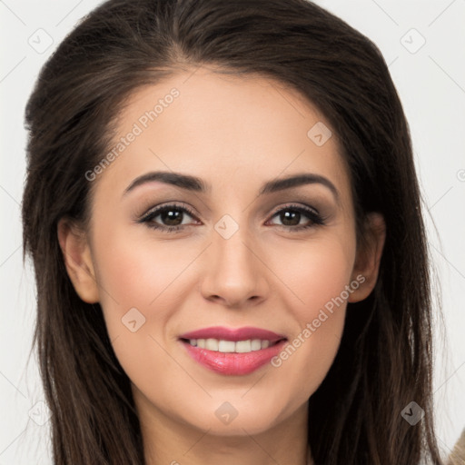
[[114, 0], [26, 109], [55, 463], [440, 464], [401, 103], [303, 0]]

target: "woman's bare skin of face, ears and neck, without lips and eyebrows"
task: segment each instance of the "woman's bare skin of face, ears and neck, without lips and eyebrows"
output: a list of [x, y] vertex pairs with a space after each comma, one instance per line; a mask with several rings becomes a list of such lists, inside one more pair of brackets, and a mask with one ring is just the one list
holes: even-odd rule
[[[265, 77], [202, 66], [138, 89], [115, 140], [173, 87], [179, 96], [94, 181], [90, 228], [60, 222], [68, 273], [84, 302], [102, 306], [133, 383], [149, 465], [304, 465], [308, 400], [338, 351], [346, 302], [281, 366], [244, 376], [208, 371], [178, 337], [209, 326], [255, 326], [292, 341], [358, 275], [364, 282], [349, 302], [365, 299], [377, 279], [382, 218], [371, 214], [370, 240], [357, 248], [336, 134], [315, 144], [307, 136], [312, 126], [331, 125], [302, 95]], [[210, 188], [193, 193], [152, 182], [124, 194], [154, 171], [191, 174]], [[296, 173], [324, 176], [338, 198], [322, 183], [259, 195], [263, 183]], [[195, 218], [184, 216], [177, 233], [137, 222], [163, 203], [186, 204]], [[311, 227], [294, 231], [276, 214], [292, 211], [289, 203], [316, 209], [324, 225], [302, 215], [297, 223]], [[239, 227], [229, 239], [214, 229], [224, 214]], [[160, 216], [156, 222], [163, 225]], [[122, 318], [134, 307], [145, 323], [132, 332]], [[228, 424], [215, 415], [225, 401], [238, 413]]]

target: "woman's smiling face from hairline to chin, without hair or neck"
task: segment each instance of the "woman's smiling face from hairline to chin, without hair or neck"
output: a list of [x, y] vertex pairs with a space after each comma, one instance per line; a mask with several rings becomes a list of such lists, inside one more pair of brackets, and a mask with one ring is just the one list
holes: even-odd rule
[[203, 67], [125, 106], [85, 174], [97, 285], [74, 284], [148, 417], [234, 435], [305, 415], [369, 292], [330, 130], [277, 82]]

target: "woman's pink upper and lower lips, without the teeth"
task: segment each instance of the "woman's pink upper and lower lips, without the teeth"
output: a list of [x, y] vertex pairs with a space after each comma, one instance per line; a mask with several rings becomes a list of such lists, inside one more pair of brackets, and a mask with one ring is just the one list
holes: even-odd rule
[[[273, 345], [259, 351], [246, 353], [209, 351], [192, 346], [188, 339], [218, 339], [224, 341], [247, 341], [261, 339], [271, 341]], [[237, 329], [215, 326], [202, 330], [186, 332], [180, 336], [180, 342], [187, 353], [203, 367], [219, 374], [242, 376], [258, 370], [272, 360], [287, 342], [287, 338], [273, 331], [261, 328], [243, 327]]]

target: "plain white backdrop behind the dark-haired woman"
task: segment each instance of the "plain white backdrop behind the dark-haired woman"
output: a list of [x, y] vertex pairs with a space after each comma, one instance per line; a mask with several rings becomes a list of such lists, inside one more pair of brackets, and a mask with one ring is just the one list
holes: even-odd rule
[[[35, 353], [29, 357], [35, 284], [21, 250], [25, 102], [47, 57], [99, 3], [0, 0], [0, 465], [52, 463]], [[465, 427], [465, 0], [318, 3], [380, 47], [411, 125], [442, 290], [434, 398], [440, 448], [448, 454]]]

